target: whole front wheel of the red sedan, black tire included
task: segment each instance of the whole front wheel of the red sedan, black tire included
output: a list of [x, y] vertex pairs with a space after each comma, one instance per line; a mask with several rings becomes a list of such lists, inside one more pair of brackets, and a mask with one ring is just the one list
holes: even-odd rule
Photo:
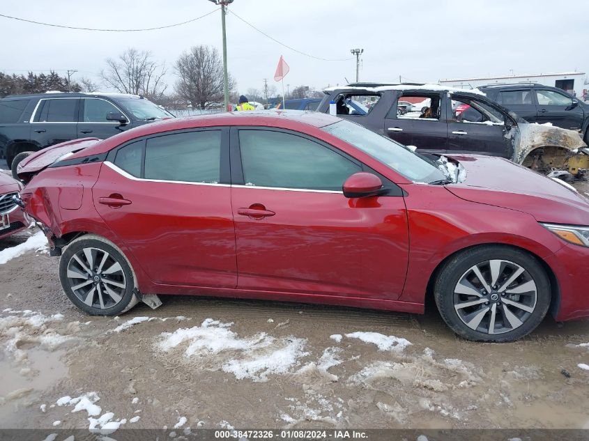
[[540, 325], [551, 287], [537, 258], [489, 245], [445, 263], [434, 285], [438, 310], [454, 332], [473, 341], [514, 341]]

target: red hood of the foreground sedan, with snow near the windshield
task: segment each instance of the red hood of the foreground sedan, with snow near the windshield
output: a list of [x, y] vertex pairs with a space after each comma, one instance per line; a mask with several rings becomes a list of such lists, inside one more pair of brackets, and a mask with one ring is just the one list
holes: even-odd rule
[[447, 185], [466, 201], [519, 210], [539, 222], [589, 225], [589, 199], [564, 183], [498, 157], [451, 155], [466, 169], [466, 179]]

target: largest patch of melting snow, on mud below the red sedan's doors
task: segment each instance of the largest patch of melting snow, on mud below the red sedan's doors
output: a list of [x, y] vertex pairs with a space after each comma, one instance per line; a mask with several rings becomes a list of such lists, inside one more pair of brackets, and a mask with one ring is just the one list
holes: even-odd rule
[[207, 318], [200, 326], [163, 332], [153, 347], [163, 357], [180, 351], [185, 362], [202, 369], [222, 370], [238, 379], [254, 381], [266, 381], [270, 374], [287, 373], [300, 357], [308, 355], [303, 350], [306, 339], [276, 338], [266, 332], [240, 338], [229, 329], [233, 324]]

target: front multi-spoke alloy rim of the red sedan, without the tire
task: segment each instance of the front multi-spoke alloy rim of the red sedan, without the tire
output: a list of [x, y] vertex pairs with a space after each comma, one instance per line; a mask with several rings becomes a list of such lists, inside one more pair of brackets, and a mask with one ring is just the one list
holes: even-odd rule
[[533, 313], [536, 302], [536, 284], [528, 271], [500, 259], [472, 266], [454, 287], [454, 309], [460, 320], [486, 334], [503, 334], [520, 327]]

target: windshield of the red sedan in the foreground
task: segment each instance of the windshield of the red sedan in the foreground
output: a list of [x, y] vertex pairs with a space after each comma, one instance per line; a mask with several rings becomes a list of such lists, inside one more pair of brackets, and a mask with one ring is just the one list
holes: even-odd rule
[[448, 179], [448, 176], [427, 157], [411, 151], [392, 139], [376, 134], [366, 127], [349, 121], [339, 121], [339, 123], [321, 128], [383, 162], [413, 182], [432, 183]]

